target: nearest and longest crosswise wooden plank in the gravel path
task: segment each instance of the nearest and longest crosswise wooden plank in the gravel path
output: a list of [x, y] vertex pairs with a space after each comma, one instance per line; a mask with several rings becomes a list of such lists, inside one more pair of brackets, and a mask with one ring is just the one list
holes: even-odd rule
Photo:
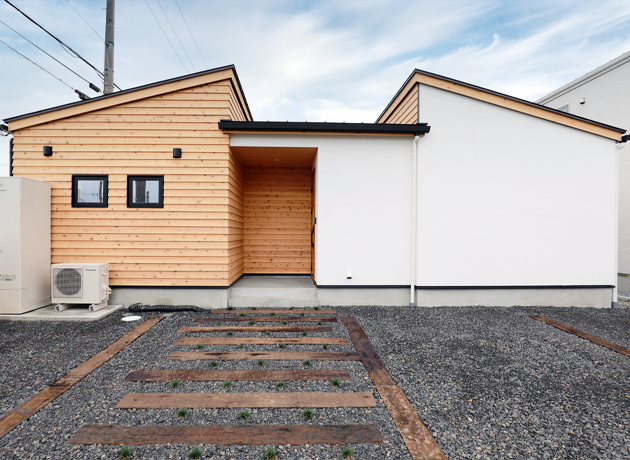
[[314, 444], [380, 444], [383, 436], [375, 425], [206, 425], [111, 426], [88, 425], [70, 444], [130, 445], [212, 444], [218, 446], [303, 446]]

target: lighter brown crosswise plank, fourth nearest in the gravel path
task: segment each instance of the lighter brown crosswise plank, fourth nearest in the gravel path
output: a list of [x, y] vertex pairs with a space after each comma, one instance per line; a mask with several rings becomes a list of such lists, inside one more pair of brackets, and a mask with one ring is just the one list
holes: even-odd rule
[[167, 361], [195, 361], [216, 359], [218, 361], [242, 361], [266, 359], [270, 361], [360, 361], [361, 357], [353, 351], [173, 351]]

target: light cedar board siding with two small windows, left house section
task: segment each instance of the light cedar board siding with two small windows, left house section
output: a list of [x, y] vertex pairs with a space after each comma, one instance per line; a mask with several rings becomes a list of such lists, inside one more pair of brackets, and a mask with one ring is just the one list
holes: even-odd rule
[[[112, 286], [228, 286], [243, 252], [229, 117], [223, 80], [15, 130], [14, 175], [52, 185], [52, 263], [108, 262]], [[73, 208], [72, 174], [108, 174], [109, 207]], [[128, 174], [163, 174], [164, 208], [127, 208]]]

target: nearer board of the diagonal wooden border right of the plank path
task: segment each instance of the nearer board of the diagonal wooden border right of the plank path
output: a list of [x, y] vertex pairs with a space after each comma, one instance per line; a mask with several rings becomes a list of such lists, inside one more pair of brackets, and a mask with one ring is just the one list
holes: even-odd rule
[[446, 455], [398, 385], [377, 385], [413, 460], [446, 460]]

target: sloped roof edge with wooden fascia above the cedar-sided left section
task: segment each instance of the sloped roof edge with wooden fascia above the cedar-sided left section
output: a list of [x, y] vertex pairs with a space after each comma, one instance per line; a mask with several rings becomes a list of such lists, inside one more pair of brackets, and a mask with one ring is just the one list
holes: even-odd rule
[[136, 86], [135, 88], [105, 94], [87, 101], [72, 102], [70, 104], [50, 107], [37, 112], [5, 118], [4, 121], [6, 123], [11, 123], [9, 130], [15, 131], [42, 123], [50, 123], [51, 121], [59, 120], [61, 118], [72, 117], [118, 104], [124, 104], [147, 97], [159, 96], [161, 94], [221, 80], [230, 80], [243, 113], [249, 120], [253, 120], [251, 111], [249, 110], [249, 105], [247, 104], [247, 99], [245, 98], [245, 93], [243, 92], [241, 82], [238, 79], [238, 74], [236, 73], [236, 67], [234, 67], [234, 65], [228, 65], [183, 75], [181, 77], [170, 78], [168, 80], [162, 80], [155, 83], [149, 83], [148, 85]]

